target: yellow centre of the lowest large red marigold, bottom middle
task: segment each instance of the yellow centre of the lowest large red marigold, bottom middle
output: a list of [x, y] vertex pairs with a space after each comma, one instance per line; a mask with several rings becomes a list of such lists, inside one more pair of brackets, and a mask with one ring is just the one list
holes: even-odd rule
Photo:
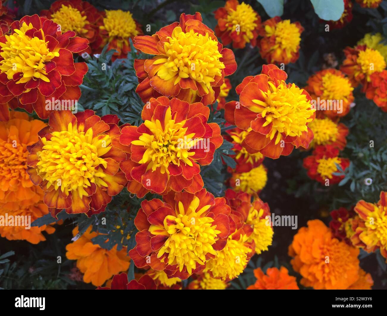
[[187, 209], [179, 201], [176, 216], [168, 215], [164, 218], [164, 229], [151, 225], [149, 232], [157, 235], [168, 236], [164, 245], [157, 253], [160, 258], [164, 253], [168, 253], [168, 264], [178, 265], [180, 272], [183, 267], [187, 268], [189, 274], [196, 268], [196, 263], [204, 265], [207, 253], [216, 254], [212, 245], [221, 231], [213, 225], [214, 219], [201, 215], [207, 211], [211, 205], [199, 207], [200, 200], [194, 197]]

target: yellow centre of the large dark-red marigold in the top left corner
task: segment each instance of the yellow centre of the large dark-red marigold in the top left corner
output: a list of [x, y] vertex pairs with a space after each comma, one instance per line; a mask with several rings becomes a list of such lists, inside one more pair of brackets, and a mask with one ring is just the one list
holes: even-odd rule
[[[5, 36], [5, 43], [0, 42], [1, 73], [6, 73], [10, 80], [15, 73], [23, 73], [23, 76], [16, 83], [25, 83], [41, 78], [45, 82], [50, 82], [46, 77], [45, 62], [59, 56], [59, 48], [49, 51], [45, 41], [45, 34], [40, 30], [43, 39], [39, 37], [29, 37], [26, 32], [32, 29], [30, 23], [23, 22], [21, 29], [15, 29], [15, 33]], [[27, 89], [25, 92], [28, 92]]]

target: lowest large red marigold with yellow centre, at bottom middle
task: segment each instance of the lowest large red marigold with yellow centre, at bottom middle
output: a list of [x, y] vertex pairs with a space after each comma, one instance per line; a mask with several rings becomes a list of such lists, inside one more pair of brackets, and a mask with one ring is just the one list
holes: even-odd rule
[[235, 223], [224, 198], [205, 189], [195, 194], [171, 191], [163, 200], [142, 201], [134, 220], [137, 246], [129, 256], [136, 267], [150, 266], [185, 280], [223, 249]]

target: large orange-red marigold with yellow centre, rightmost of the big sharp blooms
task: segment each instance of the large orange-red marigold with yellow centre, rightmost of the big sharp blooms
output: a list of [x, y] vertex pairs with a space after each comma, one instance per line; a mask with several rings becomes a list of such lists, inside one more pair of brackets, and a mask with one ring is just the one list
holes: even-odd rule
[[286, 84], [287, 77], [276, 65], [263, 65], [260, 75], [247, 76], [236, 87], [239, 102], [224, 105], [226, 121], [248, 130], [242, 146], [249, 153], [276, 159], [289, 155], [294, 146], [308, 148], [312, 141], [312, 99], [294, 83]]

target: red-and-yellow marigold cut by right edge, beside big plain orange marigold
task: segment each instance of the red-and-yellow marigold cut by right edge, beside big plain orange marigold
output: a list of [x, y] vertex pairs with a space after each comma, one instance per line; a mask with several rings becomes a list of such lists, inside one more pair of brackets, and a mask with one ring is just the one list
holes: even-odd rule
[[380, 192], [378, 203], [359, 201], [354, 211], [360, 218], [352, 224], [353, 245], [367, 252], [380, 249], [380, 254], [387, 259], [387, 192]]

